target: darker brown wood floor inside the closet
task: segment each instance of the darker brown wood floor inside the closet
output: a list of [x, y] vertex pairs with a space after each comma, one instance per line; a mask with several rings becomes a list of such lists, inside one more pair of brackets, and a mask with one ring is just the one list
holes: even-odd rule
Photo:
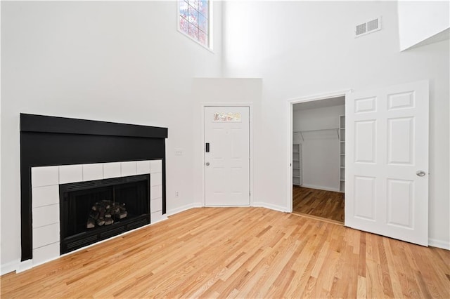
[[293, 213], [344, 223], [344, 193], [293, 186]]

